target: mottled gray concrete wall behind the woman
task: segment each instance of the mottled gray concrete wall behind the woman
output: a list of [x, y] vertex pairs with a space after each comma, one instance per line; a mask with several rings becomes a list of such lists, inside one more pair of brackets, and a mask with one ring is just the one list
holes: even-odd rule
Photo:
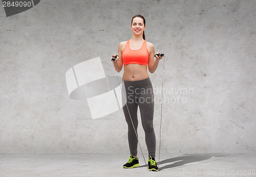
[[[115, 76], [111, 55], [132, 37], [136, 14], [166, 56], [161, 152], [255, 152], [256, 1], [47, 0], [9, 17], [0, 7], [0, 153], [129, 155], [122, 110], [92, 119], [86, 99], [69, 97], [65, 74], [100, 57]], [[148, 72], [158, 100], [162, 68]]]

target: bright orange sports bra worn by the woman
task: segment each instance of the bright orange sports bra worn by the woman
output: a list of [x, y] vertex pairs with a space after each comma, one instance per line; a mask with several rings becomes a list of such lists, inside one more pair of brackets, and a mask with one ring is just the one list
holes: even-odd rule
[[122, 53], [123, 65], [133, 63], [133, 64], [141, 64], [141, 65], [147, 66], [149, 56], [150, 55], [148, 54], [145, 40], [141, 48], [138, 50], [131, 50], [130, 40], [129, 40], [126, 42], [126, 45]]

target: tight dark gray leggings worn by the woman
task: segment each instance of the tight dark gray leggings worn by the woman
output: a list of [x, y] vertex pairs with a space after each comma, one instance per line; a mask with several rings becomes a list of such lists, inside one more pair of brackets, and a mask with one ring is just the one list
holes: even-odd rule
[[[155, 158], [156, 155], [156, 135], [153, 126], [154, 117], [154, 92], [150, 78], [139, 80], [139, 81], [124, 81], [126, 95], [125, 101], [129, 108], [134, 127], [138, 128], [138, 106], [140, 108], [142, 127], [145, 132], [145, 140], [148, 151], [148, 157]], [[124, 89], [123, 89], [124, 90]], [[122, 102], [124, 101], [122, 96]], [[125, 102], [123, 102], [123, 105]], [[128, 142], [130, 153], [133, 156], [137, 156], [138, 140], [131, 122], [129, 112], [126, 105], [123, 106], [123, 113], [125, 120], [128, 124]], [[137, 133], [138, 135], [138, 133]]]

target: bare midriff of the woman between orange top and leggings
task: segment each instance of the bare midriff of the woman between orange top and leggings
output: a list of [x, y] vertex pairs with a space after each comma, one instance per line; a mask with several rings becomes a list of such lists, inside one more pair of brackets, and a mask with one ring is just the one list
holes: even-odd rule
[[147, 74], [147, 66], [140, 64], [123, 65], [123, 80], [124, 81], [139, 81], [149, 78]]

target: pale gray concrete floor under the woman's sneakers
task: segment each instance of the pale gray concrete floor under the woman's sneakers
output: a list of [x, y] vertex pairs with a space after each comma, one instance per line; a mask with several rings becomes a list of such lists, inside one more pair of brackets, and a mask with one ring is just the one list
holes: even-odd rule
[[120, 154], [2, 153], [0, 176], [256, 176], [256, 154], [161, 154], [158, 172], [138, 157], [140, 167], [123, 169]]

